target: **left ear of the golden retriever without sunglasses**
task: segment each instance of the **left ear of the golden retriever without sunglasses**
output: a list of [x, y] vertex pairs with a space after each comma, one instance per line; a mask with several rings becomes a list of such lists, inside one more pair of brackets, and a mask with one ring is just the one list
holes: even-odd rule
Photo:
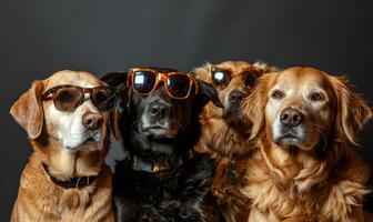
[[256, 87], [253, 88], [246, 100], [243, 102], [243, 108], [246, 111], [248, 118], [252, 121], [250, 140], [259, 137], [264, 130], [265, 124], [265, 103], [268, 100], [268, 87], [274, 74], [263, 74], [258, 80]]

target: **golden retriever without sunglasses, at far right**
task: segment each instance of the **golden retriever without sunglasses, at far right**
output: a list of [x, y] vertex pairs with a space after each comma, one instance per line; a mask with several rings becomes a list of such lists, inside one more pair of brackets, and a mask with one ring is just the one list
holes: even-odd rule
[[342, 77], [294, 67], [264, 74], [244, 102], [255, 153], [249, 221], [363, 221], [370, 167], [351, 150], [371, 108]]

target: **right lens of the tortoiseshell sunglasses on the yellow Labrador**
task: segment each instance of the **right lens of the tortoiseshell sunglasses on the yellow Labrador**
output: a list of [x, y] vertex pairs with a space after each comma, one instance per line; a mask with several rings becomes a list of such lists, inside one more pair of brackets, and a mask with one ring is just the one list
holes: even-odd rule
[[92, 100], [100, 111], [112, 111], [117, 105], [117, 94], [111, 88], [97, 88]]

